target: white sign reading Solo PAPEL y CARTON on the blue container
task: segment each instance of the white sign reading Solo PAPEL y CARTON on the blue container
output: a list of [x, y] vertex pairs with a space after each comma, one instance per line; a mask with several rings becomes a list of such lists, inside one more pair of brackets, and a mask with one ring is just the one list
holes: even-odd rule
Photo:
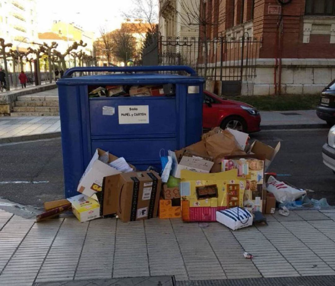
[[148, 124], [149, 105], [119, 105], [119, 124]]

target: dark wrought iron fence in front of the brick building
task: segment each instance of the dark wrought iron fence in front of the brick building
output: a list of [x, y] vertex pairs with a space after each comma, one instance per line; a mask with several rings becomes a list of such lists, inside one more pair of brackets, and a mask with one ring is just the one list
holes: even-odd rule
[[[158, 39], [159, 65], [187, 65], [213, 80], [247, 80], [256, 76], [256, 59], [262, 38], [243, 36], [203, 40], [196, 37]], [[207, 48], [206, 48], [207, 46]]]

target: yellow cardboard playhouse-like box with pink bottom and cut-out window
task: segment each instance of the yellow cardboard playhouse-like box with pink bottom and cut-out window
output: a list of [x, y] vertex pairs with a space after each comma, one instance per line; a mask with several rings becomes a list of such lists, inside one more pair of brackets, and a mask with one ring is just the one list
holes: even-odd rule
[[181, 170], [183, 221], [216, 221], [216, 211], [243, 205], [245, 187], [237, 169], [209, 174]]

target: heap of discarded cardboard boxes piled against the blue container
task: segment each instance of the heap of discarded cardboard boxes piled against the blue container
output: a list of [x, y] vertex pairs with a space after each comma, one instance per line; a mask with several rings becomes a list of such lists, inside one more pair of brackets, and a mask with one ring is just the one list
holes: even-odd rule
[[265, 180], [278, 185], [266, 171], [280, 142], [272, 148], [248, 140], [246, 133], [214, 128], [191, 146], [169, 150], [159, 174], [136, 171], [124, 158], [97, 149], [78, 184], [80, 194], [45, 203], [37, 220], [72, 209], [81, 222], [117, 216], [124, 222], [159, 217], [220, 221], [232, 229], [250, 225], [255, 212], [275, 211]]

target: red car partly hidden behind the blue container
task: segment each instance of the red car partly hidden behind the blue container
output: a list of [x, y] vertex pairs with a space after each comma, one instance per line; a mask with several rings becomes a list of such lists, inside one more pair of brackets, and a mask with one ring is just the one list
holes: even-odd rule
[[259, 111], [244, 102], [221, 98], [204, 90], [203, 128], [220, 126], [251, 133], [260, 131]]

